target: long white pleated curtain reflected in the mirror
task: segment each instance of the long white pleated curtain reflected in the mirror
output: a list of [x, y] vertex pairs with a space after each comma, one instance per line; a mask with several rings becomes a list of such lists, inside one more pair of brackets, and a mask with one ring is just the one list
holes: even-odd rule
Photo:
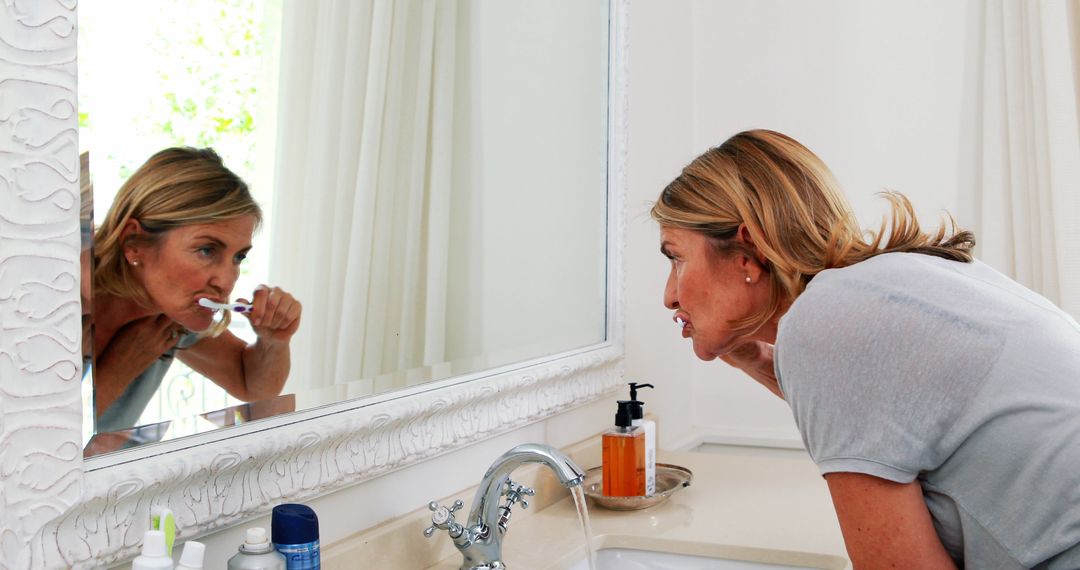
[[288, 392], [444, 359], [456, 10], [283, 5], [270, 279], [303, 303]]

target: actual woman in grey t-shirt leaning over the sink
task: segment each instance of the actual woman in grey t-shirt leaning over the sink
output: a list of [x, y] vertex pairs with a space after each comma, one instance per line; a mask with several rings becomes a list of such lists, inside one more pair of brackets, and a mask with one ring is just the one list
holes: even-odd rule
[[664, 304], [786, 399], [855, 568], [1080, 568], [1080, 326], [887, 196], [867, 243], [818, 157], [740, 133], [652, 207]]

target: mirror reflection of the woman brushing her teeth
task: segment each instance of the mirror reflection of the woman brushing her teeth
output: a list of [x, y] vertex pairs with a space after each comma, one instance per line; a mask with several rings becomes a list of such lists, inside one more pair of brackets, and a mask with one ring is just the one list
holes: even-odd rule
[[253, 344], [226, 330], [231, 313], [199, 304], [230, 300], [261, 216], [212, 149], [162, 150], [121, 187], [95, 232], [97, 432], [132, 428], [174, 356], [239, 399], [281, 393], [299, 301], [257, 287], [244, 314]]

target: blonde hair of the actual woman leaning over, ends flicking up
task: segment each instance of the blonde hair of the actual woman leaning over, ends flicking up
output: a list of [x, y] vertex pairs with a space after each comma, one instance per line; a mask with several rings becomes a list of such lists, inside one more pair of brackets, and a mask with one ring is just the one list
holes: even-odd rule
[[[761, 262], [769, 302], [732, 323], [747, 336], [785, 310], [818, 273], [892, 252], [928, 254], [970, 262], [975, 236], [951, 216], [934, 233], [919, 228], [903, 194], [885, 192], [891, 216], [875, 232], [863, 230], [833, 173], [813, 152], [773, 131], [739, 133], [683, 168], [653, 204], [663, 227], [706, 235], [723, 255]], [[753, 247], [737, 241], [745, 225]]]

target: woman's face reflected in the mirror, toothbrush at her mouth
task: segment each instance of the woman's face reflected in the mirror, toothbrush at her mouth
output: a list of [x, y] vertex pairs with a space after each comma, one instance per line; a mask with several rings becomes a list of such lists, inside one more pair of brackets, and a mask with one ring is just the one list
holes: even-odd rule
[[214, 311], [199, 299], [229, 300], [240, 263], [252, 248], [255, 223], [254, 216], [242, 216], [171, 230], [154, 246], [135, 253], [135, 275], [166, 316], [188, 330], [205, 330]]

